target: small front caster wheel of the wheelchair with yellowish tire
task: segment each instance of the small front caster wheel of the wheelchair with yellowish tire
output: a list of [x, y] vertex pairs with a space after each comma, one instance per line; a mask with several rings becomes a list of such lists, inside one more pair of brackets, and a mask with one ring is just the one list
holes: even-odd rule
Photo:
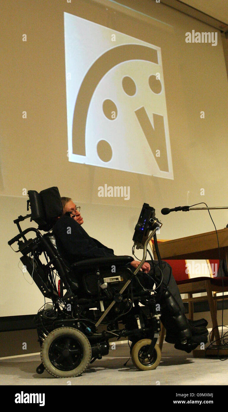
[[150, 344], [151, 339], [141, 339], [132, 348], [132, 362], [139, 370], [153, 370], [160, 363], [162, 353], [157, 344], [155, 344], [152, 355], [147, 356]]

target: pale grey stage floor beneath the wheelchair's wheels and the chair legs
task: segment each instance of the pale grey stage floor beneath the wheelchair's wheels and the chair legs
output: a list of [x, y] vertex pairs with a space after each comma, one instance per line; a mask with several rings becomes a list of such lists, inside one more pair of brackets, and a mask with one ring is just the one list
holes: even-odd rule
[[193, 358], [165, 343], [157, 369], [137, 370], [129, 357], [129, 346], [118, 344], [108, 356], [95, 361], [76, 378], [57, 379], [45, 370], [35, 372], [40, 356], [26, 356], [0, 361], [0, 385], [227, 385], [228, 360]]

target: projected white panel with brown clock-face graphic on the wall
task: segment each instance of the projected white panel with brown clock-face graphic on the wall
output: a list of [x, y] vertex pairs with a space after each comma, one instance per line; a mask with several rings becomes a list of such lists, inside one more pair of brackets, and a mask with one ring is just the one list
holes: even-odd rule
[[64, 13], [70, 162], [173, 179], [161, 49]]

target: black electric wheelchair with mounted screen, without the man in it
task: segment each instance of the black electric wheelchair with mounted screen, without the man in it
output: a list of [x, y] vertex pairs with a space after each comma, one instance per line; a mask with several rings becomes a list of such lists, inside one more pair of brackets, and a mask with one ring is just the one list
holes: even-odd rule
[[[130, 256], [96, 258], [69, 264], [56, 248], [52, 227], [62, 215], [57, 187], [28, 191], [27, 211], [14, 223], [19, 234], [14, 242], [22, 254], [20, 260], [40, 289], [52, 301], [35, 316], [42, 363], [54, 377], [76, 377], [90, 363], [109, 352], [110, 339], [128, 338], [132, 362], [139, 370], [153, 370], [159, 365], [161, 351], [156, 344], [160, 331], [157, 293], [162, 281], [154, 280], [154, 290], [143, 287], [140, 268], [146, 260], [147, 245], [162, 223], [155, 209], [144, 204], [133, 236], [134, 246], [143, 248], [143, 259], [133, 272]], [[22, 231], [20, 222], [31, 218], [38, 228]], [[45, 232], [41, 234], [41, 232]], [[33, 239], [26, 235], [35, 233]], [[15, 250], [14, 250], [15, 251]], [[158, 250], [157, 253], [159, 254]], [[139, 272], [139, 273], [138, 273]]]

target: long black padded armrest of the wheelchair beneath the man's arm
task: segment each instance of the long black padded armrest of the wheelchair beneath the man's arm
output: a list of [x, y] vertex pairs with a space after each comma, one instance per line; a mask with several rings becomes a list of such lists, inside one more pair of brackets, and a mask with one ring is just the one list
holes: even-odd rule
[[80, 260], [80, 262], [75, 262], [71, 265], [72, 269], [82, 269], [85, 267], [107, 267], [109, 265], [115, 266], [125, 266], [127, 263], [134, 260], [132, 256], [113, 256], [111, 258], [93, 258]]

